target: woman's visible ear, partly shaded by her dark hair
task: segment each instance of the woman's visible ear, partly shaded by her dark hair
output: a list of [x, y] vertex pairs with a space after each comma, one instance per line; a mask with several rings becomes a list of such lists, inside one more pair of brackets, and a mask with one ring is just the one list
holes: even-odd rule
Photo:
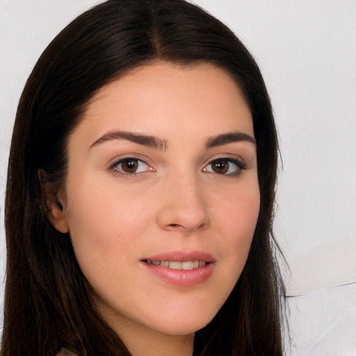
[[58, 188], [58, 182], [42, 168], [38, 170], [38, 179], [40, 181], [44, 214], [58, 232], [67, 234], [69, 227], [65, 217], [65, 198], [63, 192]]

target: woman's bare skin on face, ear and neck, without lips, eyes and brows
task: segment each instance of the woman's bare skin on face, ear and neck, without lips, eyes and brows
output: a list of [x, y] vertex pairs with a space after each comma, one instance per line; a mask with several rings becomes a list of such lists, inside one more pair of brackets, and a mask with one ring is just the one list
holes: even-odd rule
[[[113, 130], [165, 142], [159, 149], [99, 140]], [[209, 138], [231, 132], [252, 140], [207, 147]], [[71, 133], [65, 191], [58, 194], [63, 209], [52, 204], [52, 221], [70, 232], [99, 312], [132, 355], [192, 355], [194, 332], [231, 293], [259, 213], [253, 138], [238, 86], [207, 63], [161, 62], [129, 72], [97, 92]], [[145, 163], [120, 175], [127, 165], [117, 163], [128, 157]], [[214, 171], [216, 159], [229, 170]], [[215, 262], [195, 286], [167, 283], [142, 261], [196, 250]]]

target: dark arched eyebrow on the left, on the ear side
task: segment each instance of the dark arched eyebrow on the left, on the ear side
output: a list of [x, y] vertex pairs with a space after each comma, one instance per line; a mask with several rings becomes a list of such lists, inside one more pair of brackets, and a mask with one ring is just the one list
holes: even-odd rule
[[165, 151], [168, 147], [167, 140], [157, 136], [146, 135], [145, 133], [138, 133], [133, 131], [114, 130], [104, 133], [104, 135], [98, 138], [95, 143], [92, 143], [89, 149], [97, 145], [102, 145], [103, 143], [111, 140], [129, 140], [133, 143], [159, 149], [161, 151]]

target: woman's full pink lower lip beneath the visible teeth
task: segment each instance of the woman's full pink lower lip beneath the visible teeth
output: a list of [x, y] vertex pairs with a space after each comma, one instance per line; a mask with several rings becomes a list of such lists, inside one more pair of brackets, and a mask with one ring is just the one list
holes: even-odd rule
[[143, 261], [142, 263], [156, 277], [175, 286], [197, 286], [206, 281], [213, 273], [213, 264], [206, 264], [191, 270], [175, 270], [165, 266], [154, 266]]

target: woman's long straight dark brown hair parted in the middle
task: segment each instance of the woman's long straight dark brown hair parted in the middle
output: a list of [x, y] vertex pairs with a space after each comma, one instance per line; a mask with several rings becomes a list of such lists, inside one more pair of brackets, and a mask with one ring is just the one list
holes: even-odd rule
[[6, 297], [2, 356], [129, 355], [90, 301], [69, 234], [46, 218], [38, 170], [65, 182], [70, 132], [90, 98], [135, 67], [165, 60], [213, 63], [241, 88], [257, 140], [261, 208], [248, 261], [194, 355], [282, 355], [284, 287], [272, 234], [277, 135], [264, 80], [234, 33], [184, 0], [111, 0], [74, 19], [44, 51], [19, 102], [6, 191]]

